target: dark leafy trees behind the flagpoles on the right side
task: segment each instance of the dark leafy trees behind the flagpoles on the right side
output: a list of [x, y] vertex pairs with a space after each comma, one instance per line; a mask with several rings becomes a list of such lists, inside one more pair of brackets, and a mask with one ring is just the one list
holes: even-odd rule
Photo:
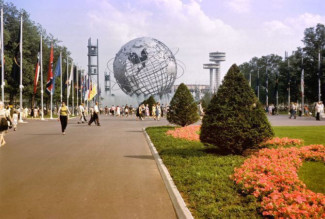
[[[301, 101], [301, 72], [304, 68], [304, 95], [305, 102], [318, 101], [318, 52], [321, 55], [321, 93], [325, 96], [325, 26], [317, 24], [316, 27], [307, 28], [304, 32], [304, 47], [298, 47], [288, 57], [275, 54], [253, 57], [244, 62], [239, 68], [249, 80], [251, 73], [251, 86], [257, 85], [259, 71], [260, 101], [266, 104], [266, 67], [268, 68], [268, 103], [275, 103], [276, 66], [278, 69], [278, 101], [288, 104], [288, 71], [290, 79], [290, 97], [292, 101]], [[303, 58], [303, 66], [302, 66]], [[289, 67], [288, 67], [289, 62]]]

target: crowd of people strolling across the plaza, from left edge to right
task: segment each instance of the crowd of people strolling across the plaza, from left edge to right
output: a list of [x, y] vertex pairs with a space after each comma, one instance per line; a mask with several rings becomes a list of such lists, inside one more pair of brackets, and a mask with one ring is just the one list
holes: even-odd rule
[[[202, 108], [202, 103], [198, 102], [197, 105], [197, 113], [200, 119], [203, 118], [204, 110]], [[316, 120], [321, 120], [321, 118], [325, 118], [324, 113], [324, 104], [322, 101], [315, 103], [313, 106], [313, 111], [315, 113]], [[112, 105], [112, 106], [105, 106], [104, 108], [99, 108], [98, 102], [95, 103], [93, 107], [88, 109], [87, 106], [84, 106], [84, 103], [81, 103], [79, 107], [76, 107], [76, 112], [78, 112], [77, 116], [79, 117], [77, 123], [87, 123], [89, 126], [94, 122], [96, 126], [100, 126], [99, 123], [99, 114], [104, 114], [105, 116], [116, 116], [116, 117], [135, 117], [136, 120], [144, 120], [145, 118], [153, 118], [154, 120], [160, 121], [160, 118], [165, 117], [167, 115], [169, 106], [168, 104], [161, 104], [157, 102], [149, 108], [148, 104], [139, 104], [137, 107], [133, 107], [132, 105]], [[18, 118], [20, 108], [13, 109], [11, 112], [11, 108], [9, 105], [4, 106], [4, 103], [0, 101], [0, 147], [3, 146], [6, 142], [4, 141], [3, 136], [7, 132], [8, 127], [14, 128], [14, 131], [17, 130]], [[29, 109], [27, 107], [23, 108], [22, 119], [26, 119], [28, 116], [32, 118], [32, 120], [36, 120], [37, 118], [41, 118], [41, 113], [43, 110], [43, 114], [46, 115], [46, 108], [39, 108], [34, 107]], [[264, 107], [264, 110], [267, 115], [275, 115], [276, 107], [271, 104], [270, 106]], [[50, 113], [50, 111], [48, 112]], [[61, 122], [61, 131], [62, 134], [65, 135], [65, 129], [69, 120], [69, 116], [71, 115], [71, 110], [68, 106], [65, 105], [65, 101], [61, 102], [61, 106], [57, 110], [56, 107], [53, 109], [53, 115], [58, 115], [58, 121]], [[90, 114], [89, 121], [87, 120], [87, 115]], [[311, 118], [312, 112], [309, 110], [308, 105], [298, 105], [297, 103], [291, 102], [290, 104], [290, 117], [289, 118], [297, 118], [306, 116]]]

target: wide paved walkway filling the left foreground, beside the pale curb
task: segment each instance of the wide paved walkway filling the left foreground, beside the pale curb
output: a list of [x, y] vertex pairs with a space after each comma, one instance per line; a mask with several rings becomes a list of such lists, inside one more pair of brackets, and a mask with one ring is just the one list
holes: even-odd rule
[[176, 218], [142, 132], [165, 118], [28, 122], [0, 148], [0, 218]]

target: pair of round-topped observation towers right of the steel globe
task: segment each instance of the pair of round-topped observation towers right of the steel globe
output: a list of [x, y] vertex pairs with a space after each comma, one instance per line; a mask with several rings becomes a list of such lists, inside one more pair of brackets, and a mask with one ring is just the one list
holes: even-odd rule
[[[210, 92], [216, 93], [221, 84], [220, 77], [220, 62], [226, 61], [226, 52], [210, 52], [209, 61], [214, 63], [203, 64], [203, 68], [210, 69]], [[213, 84], [213, 69], [215, 69], [214, 84]]]

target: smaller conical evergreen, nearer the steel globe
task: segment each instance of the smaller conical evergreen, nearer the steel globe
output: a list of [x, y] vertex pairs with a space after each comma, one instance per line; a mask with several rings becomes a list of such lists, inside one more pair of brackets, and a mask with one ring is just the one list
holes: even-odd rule
[[191, 92], [185, 84], [179, 84], [170, 101], [167, 120], [172, 124], [184, 127], [195, 123], [198, 119], [197, 106]]

